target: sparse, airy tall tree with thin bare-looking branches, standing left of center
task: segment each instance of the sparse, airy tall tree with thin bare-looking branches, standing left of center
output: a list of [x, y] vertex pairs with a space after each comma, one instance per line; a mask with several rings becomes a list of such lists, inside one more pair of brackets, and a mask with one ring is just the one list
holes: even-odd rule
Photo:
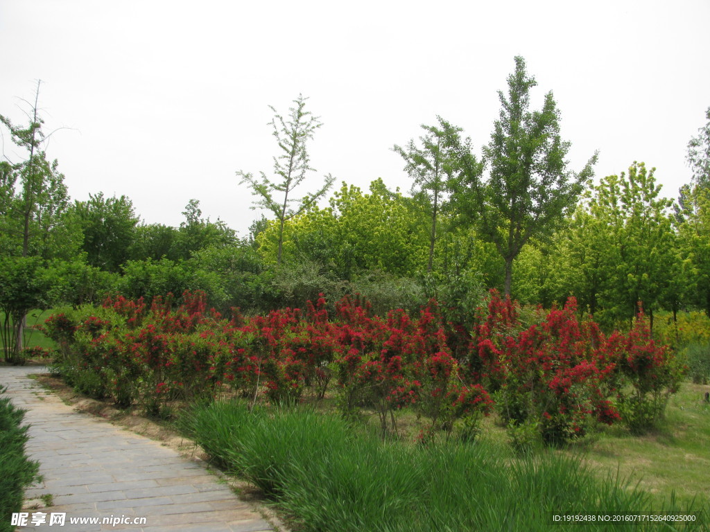
[[[306, 178], [307, 172], [315, 171], [308, 164], [306, 143], [307, 140], [313, 138], [315, 130], [322, 126], [317, 117], [312, 116], [310, 111], [304, 110], [306, 100], [307, 98], [298, 95], [298, 98], [293, 101], [295, 106], [289, 108], [288, 119], [278, 114], [273, 106], [269, 106], [275, 113], [270, 124], [280, 149], [280, 155], [273, 157], [275, 179], [268, 179], [264, 172], [260, 172], [261, 177], [256, 177], [243, 170], [236, 172], [241, 177], [239, 184], [249, 184], [252, 194], [260, 198], [254, 202], [252, 209], [256, 207], [267, 209], [273, 212], [278, 220], [278, 264], [281, 263], [283, 250], [284, 223], [315, 204], [318, 199], [324, 196], [335, 179], [328, 174], [325, 176], [324, 184], [317, 192], [305, 194], [300, 198], [292, 196], [293, 190]], [[278, 194], [283, 194], [283, 196]]]

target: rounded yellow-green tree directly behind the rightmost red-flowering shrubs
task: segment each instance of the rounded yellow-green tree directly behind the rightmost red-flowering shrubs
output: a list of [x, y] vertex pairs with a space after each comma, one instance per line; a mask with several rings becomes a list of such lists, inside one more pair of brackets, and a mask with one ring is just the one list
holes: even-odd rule
[[654, 170], [634, 162], [628, 174], [601, 179], [569, 232], [574, 287], [606, 326], [633, 318], [639, 301], [652, 320], [654, 309], [677, 289], [672, 201], [660, 196]]

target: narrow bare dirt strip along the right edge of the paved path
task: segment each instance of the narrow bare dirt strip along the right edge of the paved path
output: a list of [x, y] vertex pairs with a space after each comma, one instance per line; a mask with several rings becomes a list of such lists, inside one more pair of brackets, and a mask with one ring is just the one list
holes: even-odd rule
[[90, 399], [78, 394], [62, 379], [50, 375], [48, 373], [40, 373], [34, 375], [34, 378], [45, 389], [50, 389], [53, 394], [59, 397], [62, 402], [73, 406], [75, 410], [92, 414], [102, 418], [109, 423], [126, 428], [127, 430], [151, 438], [151, 440], [160, 441], [165, 447], [171, 448], [180, 453], [181, 456], [190, 460], [206, 462], [209, 465], [209, 470], [224, 480], [229, 486], [234, 489], [239, 498], [249, 502], [254, 509], [263, 516], [266, 521], [271, 523], [275, 531], [288, 531], [283, 521], [274, 513], [274, 511], [266, 506], [266, 498], [258, 487], [244, 482], [231, 475], [226, 475], [224, 472], [217, 470], [214, 465], [210, 464], [209, 455], [204, 452], [194, 441], [185, 438], [180, 433], [170, 427], [161, 425], [157, 421], [136, 414], [135, 411], [117, 409], [116, 406], [107, 401], [98, 401]]

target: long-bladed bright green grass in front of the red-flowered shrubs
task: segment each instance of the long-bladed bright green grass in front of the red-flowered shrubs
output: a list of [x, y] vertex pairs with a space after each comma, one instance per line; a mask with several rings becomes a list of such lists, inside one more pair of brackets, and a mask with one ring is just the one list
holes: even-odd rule
[[536, 531], [550, 529], [552, 514], [658, 511], [628, 482], [600, 481], [553, 451], [514, 458], [484, 442], [383, 443], [338, 416], [239, 402], [196, 406], [181, 424], [303, 531]]

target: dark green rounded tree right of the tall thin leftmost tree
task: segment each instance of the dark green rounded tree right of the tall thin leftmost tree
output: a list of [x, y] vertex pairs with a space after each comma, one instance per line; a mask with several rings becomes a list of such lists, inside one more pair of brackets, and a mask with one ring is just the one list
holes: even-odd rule
[[82, 249], [87, 263], [109, 272], [118, 272], [129, 259], [129, 248], [136, 237], [138, 216], [126, 196], [104, 198], [103, 192], [89, 194], [88, 201], [75, 201], [84, 234]]

